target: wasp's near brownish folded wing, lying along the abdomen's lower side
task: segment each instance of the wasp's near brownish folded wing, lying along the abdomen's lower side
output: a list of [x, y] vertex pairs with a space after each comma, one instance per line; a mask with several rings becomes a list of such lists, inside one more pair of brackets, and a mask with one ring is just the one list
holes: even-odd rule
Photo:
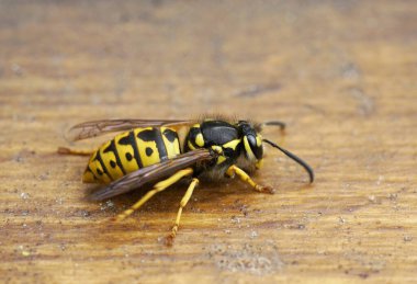
[[162, 161], [135, 172], [128, 173], [123, 178], [110, 183], [90, 195], [90, 200], [102, 201], [122, 193], [136, 190], [145, 183], [158, 181], [165, 177], [171, 175], [177, 171], [198, 164], [204, 163], [214, 158], [207, 149], [196, 149], [179, 155], [174, 159]]

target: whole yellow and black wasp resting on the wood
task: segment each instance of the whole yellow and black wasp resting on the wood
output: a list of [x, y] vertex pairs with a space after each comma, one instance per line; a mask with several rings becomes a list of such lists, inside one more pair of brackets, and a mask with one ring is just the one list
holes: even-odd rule
[[268, 122], [202, 118], [202, 120], [102, 120], [75, 125], [69, 129], [70, 140], [81, 140], [99, 135], [121, 132], [97, 150], [77, 151], [60, 147], [58, 152], [90, 155], [82, 175], [86, 183], [102, 185], [90, 195], [93, 201], [106, 200], [151, 183], [149, 190], [115, 220], [123, 220], [137, 211], [150, 197], [165, 191], [183, 178], [191, 178], [177, 213], [174, 225], [168, 236], [172, 243], [182, 211], [195, 186], [204, 177], [222, 179], [238, 177], [258, 192], [272, 193], [271, 186], [256, 183], [250, 173], [260, 169], [263, 145], [268, 144], [301, 164], [314, 181], [313, 169], [294, 154], [262, 138], [267, 125], [285, 124]]

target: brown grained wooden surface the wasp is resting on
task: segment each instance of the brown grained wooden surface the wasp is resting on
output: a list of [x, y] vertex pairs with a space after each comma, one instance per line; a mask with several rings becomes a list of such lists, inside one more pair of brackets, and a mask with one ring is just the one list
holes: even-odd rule
[[[5, 283], [413, 282], [415, 1], [0, 1]], [[255, 179], [97, 204], [63, 133], [104, 117], [233, 113], [288, 123]], [[92, 148], [102, 139], [72, 145]]]

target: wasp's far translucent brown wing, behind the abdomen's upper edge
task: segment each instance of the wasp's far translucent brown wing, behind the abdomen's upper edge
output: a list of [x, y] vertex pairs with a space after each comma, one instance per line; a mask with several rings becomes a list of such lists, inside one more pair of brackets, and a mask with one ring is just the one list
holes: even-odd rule
[[187, 120], [102, 120], [80, 123], [72, 126], [66, 138], [70, 141], [87, 139], [112, 132], [129, 130], [136, 127], [172, 126], [180, 127], [191, 124]]

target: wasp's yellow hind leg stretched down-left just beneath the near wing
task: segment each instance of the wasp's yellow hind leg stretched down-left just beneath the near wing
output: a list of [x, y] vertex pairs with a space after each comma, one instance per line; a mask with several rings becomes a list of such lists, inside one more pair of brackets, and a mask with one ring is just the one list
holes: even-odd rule
[[166, 190], [168, 186], [172, 185], [173, 183], [178, 182], [180, 179], [182, 179], [185, 175], [190, 175], [193, 173], [193, 169], [187, 168], [183, 170], [180, 170], [169, 177], [168, 179], [158, 182], [154, 185], [154, 190], [148, 191], [138, 202], [136, 202], [134, 205], [132, 205], [128, 209], [124, 211], [123, 213], [119, 214], [115, 218], [116, 221], [125, 219], [127, 216], [129, 216], [132, 213], [140, 208], [142, 205], [144, 205], [151, 196], [154, 196], [156, 193], [161, 192]]

